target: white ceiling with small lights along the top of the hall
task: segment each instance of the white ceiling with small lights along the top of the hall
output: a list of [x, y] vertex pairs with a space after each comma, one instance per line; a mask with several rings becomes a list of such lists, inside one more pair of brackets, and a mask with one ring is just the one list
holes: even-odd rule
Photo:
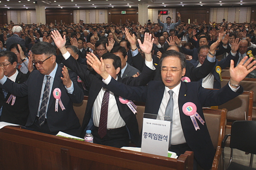
[[[168, 8], [175, 6], [240, 6], [256, 5], [256, 0], [0, 0], [0, 8], [35, 9], [35, 3], [46, 8], [111, 8], [138, 7], [138, 3], [148, 3], [148, 7]], [[164, 3], [164, 4], [163, 4]], [[93, 5], [94, 4], [94, 5]], [[110, 5], [111, 4], [111, 5]], [[129, 5], [128, 5], [129, 4]], [[60, 5], [60, 6], [58, 6]], [[166, 7], [165, 7], [166, 6]]]

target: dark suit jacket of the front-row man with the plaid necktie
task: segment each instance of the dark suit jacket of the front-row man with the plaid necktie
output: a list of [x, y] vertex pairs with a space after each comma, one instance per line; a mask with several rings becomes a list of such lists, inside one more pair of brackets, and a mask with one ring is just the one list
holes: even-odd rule
[[[70, 79], [74, 85], [74, 91], [73, 94], [67, 93], [67, 90], [61, 80], [61, 77], [63, 76], [61, 71], [62, 67], [58, 65], [52, 85], [52, 91], [55, 88], [61, 89], [61, 102], [66, 109], [62, 111], [60, 106], [58, 106], [58, 112], [55, 112], [55, 98], [51, 91], [47, 110], [47, 123], [51, 133], [62, 131], [70, 135], [79, 136], [81, 127], [79, 119], [73, 110], [73, 102], [81, 103], [83, 101], [83, 92], [77, 85], [77, 75], [74, 72], [69, 71]], [[44, 88], [42, 87], [43, 80], [44, 75], [38, 70], [34, 70], [31, 72], [28, 80], [22, 84], [17, 84], [7, 79], [7, 81], [2, 85], [2, 88], [10, 91], [16, 96], [28, 95], [29, 117], [26, 126], [31, 126], [35, 122], [39, 107], [41, 89]]]

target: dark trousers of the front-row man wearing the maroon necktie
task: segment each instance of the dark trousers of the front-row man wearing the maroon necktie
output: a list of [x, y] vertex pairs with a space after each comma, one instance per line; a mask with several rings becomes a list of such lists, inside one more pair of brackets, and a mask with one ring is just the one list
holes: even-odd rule
[[129, 134], [125, 126], [116, 129], [108, 129], [107, 135], [103, 138], [99, 136], [98, 129], [98, 127], [94, 127], [92, 130], [93, 143], [118, 148], [129, 146]]

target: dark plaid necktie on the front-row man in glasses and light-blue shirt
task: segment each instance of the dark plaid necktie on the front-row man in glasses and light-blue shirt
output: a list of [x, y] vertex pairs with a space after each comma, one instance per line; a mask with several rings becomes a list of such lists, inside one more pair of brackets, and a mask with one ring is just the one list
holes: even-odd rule
[[47, 102], [48, 102], [48, 99], [49, 99], [50, 78], [51, 77], [46, 76], [46, 78], [47, 78], [47, 81], [46, 81], [45, 86], [44, 86], [44, 94], [43, 94], [42, 103], [41, 103], [41, 107], [40, 107], [40, 111], [39, 111], [39, 118], [38, 118], [38, 122], [39, 122], [40, 126], [44, 125], [46, 107], [47, 107]]

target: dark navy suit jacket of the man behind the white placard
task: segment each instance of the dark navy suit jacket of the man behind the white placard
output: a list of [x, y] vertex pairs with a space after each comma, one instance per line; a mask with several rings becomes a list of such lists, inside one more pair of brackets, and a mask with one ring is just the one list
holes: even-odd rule
[[[145, 102], [145, 113], [155, 115], [158, 114], [165, 90], [165, 85], [162, 81], [151, 81], [148, 86], [130, 87], [115, 81], [113, 78], [105, 87], [114, 94], [126, 99]], [[215, 155], [207, 125], [202, 125], [198, 122], [200, 130], [196, 131], [190, 117], [183, 113], [182, 107], [186, 102], [193, 102], [197, 106], [197, 113], [204, 119], [202, 107], [221, 105], [242, 92], [243, 88], [241, 86], [235, 93], [230, 89], [229, 85], [220, 90], [209, 90], [202, 88], [199, 82], [181, 82], [178, 96], [181, 126], [186, 142], [194, 152], [195, 159], [204, 169], [211, 169]]]

